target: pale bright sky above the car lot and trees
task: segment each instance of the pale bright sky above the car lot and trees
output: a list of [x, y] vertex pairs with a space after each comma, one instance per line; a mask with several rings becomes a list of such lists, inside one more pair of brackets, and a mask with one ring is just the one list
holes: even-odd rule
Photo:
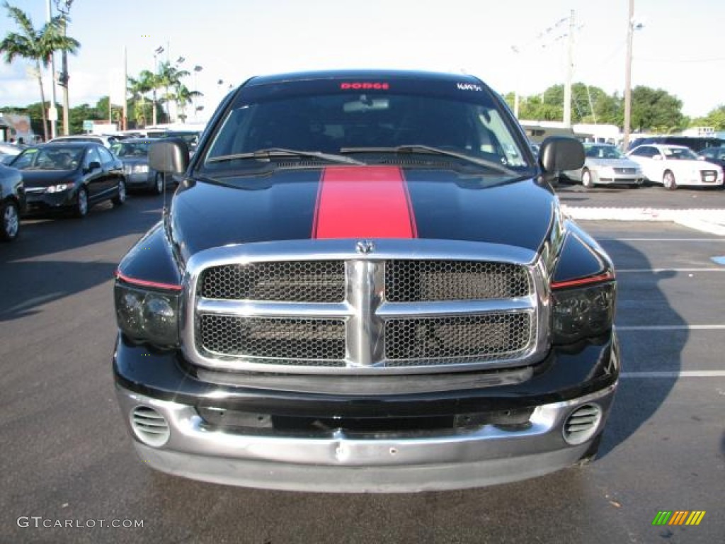
[[[211, 115], [230, 84], [252, 75], [326, 68], [463, 72], [502, 94], [529, 96], [566, 80], [570, 33], [573, 81], [621, 95], [628, 1], [74, 0], [68, 32], [81, 47], [69, 57], [70, 106], [95, 105], [109, 93], [120, 102], [124, 48], [135, 76], [154, 70], [159, 46], [158, 60], [183, 57], [192, 73], [186, 86], [204, 94], [197, 120]], [[36, 27], [48, 2], [10, 0]], [[634, 33], [632, 86], [663, 88], [691, 117], [725, 104], [725, 1], [634, 0], [634, 7], [642, 28]], [[0, 38], [14, 30], [0, 7]], [[0, 107], [40, 102], [28, 67], [0, 59]]]

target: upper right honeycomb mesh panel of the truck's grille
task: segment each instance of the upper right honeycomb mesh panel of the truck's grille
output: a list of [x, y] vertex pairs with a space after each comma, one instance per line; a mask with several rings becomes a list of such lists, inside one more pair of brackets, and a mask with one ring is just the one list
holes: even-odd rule
[[385, 297], [390, 302], [504, 299], [530, 293], [526, 269], [508, 263], [389, 260], [385, 265]]

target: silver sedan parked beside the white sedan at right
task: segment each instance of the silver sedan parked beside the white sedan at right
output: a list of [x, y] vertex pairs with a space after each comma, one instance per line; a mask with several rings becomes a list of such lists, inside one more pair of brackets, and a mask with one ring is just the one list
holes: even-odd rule
[[642, 168], [629, 160], [619, 149], [609, 144], [584, 144], [587, 158], [580, 170], [568, 170], [564, 175], [585, 187], [598, 184], [627, 184], [641, 186], [645, 181]]

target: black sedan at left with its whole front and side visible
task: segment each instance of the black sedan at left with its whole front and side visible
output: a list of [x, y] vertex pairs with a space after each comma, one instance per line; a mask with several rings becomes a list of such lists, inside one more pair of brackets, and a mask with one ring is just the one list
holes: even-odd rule
[[76, 217], [104, 200], [126, 199], [123, 164], [99, 144], [78, 141], [25, 149], [11, 166], [22, 173], [28, 213], [70, 211]]

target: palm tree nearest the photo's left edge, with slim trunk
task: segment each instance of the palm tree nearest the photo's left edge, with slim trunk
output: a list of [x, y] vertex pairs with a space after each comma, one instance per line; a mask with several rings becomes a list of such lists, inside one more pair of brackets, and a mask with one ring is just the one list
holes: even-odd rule
[[[43, 104], [41, 115], [43, 117], [43, 137], [48, 139], [48, 120], [45, 112], [45, 91], [43, 91], [43, 78], [41, 65], [47, 69], [54, 51], [68, 51], [75, 54], [80, 42], [70, 36], [65, 36], [63, 17], [52, 17], [42, 28], [36, 30], [33, 21], [22, 9], [11, 6], [7, 1], [4, 4], [8, 17], [20, 27], [20, 33], [7, 33], [0, 42], [0, 53], [4, 54], [5, 62], [10, 64], [15, 57], [35, 61], [38, 73], [38, 86], [41, 89], [41, 102]], [[67, 17], [65, 21], [68, 21]], [[54, 76], [54, 75], [53, 75]], [[55, 104], [53, 104], [55, 106]]]

